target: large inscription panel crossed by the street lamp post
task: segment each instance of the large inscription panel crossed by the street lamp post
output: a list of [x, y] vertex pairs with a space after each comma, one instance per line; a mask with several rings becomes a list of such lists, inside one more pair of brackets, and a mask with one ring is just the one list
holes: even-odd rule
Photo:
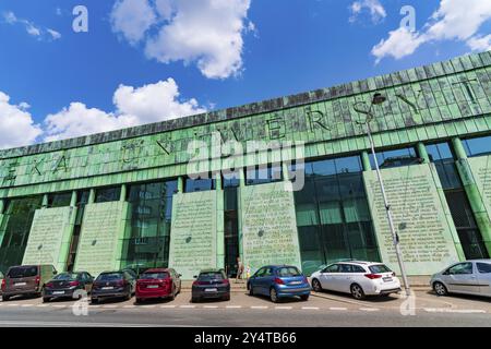
[[[383, 169], [382, 177], [408, 275], [431, 275], [458, 262], [446, 203], [440, 201], [430, 166]], [[400, 272], [376, 172], [363, 178], [382, 261]]]

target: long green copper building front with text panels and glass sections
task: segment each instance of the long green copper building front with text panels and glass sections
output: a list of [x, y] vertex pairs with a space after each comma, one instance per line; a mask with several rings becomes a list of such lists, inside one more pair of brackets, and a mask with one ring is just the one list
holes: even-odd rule
[[[395, 268], [360, 125], [375, 93], [387, 100], [374, 106], [371, 129], [410, 274], [489, 256], [490, 156], [465, 147], [469, 139], [491, 135], [491, 53], [483, 52], [237, 108], [0, 151], [0, 269], [50, 263], [97, 274], [170, 265], [189, 278], [199, 264], [232, 270], [233, 256], [252, 269], [288, 262], [311, 273], [351, 257]], [[213, 173], [209, 188], [188, 178], [193, 141], [211, 154], [195, 164]], [[279, 147], [247, 153], [251, 141]], [[233, 153], [225, 145], [231, 142], [247, 153], [236, 159], [236, 169], [279, 164], [283, 178], [254, 182], [248, 169], [237, 171], [237, 183], [224, 178], [220, 171]], [[286, 146], [291, 142], [304, 147]], [[450, 157], [438, 158], [442, 147]], [[409, 158], [383, 157], [399, 149], [409, 149]], [[289, 161], [300, 157], [306, 186], [291, 192], [284, 185]], [[64, 194], [68, 202], [60, 198]]]

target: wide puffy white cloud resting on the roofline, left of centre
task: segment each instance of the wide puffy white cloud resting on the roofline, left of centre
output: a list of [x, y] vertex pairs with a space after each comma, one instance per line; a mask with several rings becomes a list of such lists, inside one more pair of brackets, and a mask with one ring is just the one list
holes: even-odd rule
[[57, 141], [112, 131], [151, 122], [176, 119], [206, 111], [195, 99], [180, 100], [172, 79], [135, 88], [120, 85], [113, 95], [116, 111], [87, 108], [82, 103], [49, 115], [45, 120], [45, 141]]

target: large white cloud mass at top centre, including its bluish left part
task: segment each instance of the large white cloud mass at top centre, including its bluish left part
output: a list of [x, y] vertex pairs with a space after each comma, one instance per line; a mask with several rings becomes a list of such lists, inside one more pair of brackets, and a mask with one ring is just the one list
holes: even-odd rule
[[196, 63], [203, 75], [226, 79], [243, 65], [242, 35], [253, 25], [251, 0], [117, 0], [112, 29], [161, 63]]

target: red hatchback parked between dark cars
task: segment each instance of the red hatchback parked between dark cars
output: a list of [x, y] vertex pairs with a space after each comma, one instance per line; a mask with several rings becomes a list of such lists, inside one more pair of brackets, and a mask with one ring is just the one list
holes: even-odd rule
[[175, 299], [176, 294], [181, 291], [180, 276], [171, 268], [145, 270], [136, 280], [136, 303], [141, 303], [145, 299]]

